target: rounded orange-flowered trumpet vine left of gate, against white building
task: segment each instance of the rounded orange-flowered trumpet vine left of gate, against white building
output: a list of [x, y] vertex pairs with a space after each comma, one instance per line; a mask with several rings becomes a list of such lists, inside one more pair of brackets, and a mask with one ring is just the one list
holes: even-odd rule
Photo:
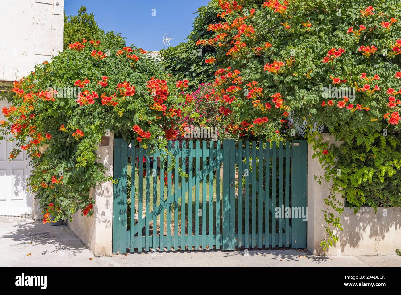
[[176, 139], [186, 100], [146, 52], [121, 37], [80, 40], [14, 82], [12, 106], [4, 107], [0, 139], [11, 134], [14, 150], [30, 158], [29, 189], [39, 199], [43, 222], [93, 214], [89, 190], [106, 177], [96, 150], [108, 129], [144, 147]]

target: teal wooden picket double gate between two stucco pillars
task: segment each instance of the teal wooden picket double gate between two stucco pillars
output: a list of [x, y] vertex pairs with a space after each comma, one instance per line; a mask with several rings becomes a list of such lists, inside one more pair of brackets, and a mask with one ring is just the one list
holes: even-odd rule
[[306, 248], [305, 140], [169, 141], [151, 154], [114, 139], [113, 171], [113, 253]]

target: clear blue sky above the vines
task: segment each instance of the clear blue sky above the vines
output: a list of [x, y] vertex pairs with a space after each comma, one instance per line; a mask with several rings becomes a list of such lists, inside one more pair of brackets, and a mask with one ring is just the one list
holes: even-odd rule
[[[163, 35], [184, 41], [192, 30], [194, 12], [208, 0], [65, 0], [65, 13], [76, 15], [81, 5], [93, 12], [100, 28], [121, 33], [128, 45], [145, 50], [164, 48]], [[154, 10], [152, 10], [154, 9]], [[152, 11], [156, 16], [152, 16]], [[166, 46], [167, 48], [168, 46]]]

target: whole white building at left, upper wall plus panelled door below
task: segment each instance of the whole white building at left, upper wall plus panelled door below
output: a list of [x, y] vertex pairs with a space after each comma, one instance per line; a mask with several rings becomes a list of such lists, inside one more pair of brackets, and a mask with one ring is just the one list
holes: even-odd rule
[[[0, 82], [19, 80], [63, 51], [63, 29], [64, 0], [0, 0]], [[12, 88], [11, 83], [1, 84]], [[0, 96], [0, 108], [4, 106], [9, 103]], [[0, 216], [41, 218], [39, 206], [25, 191], [27, 159], [8, 161], [12, 147], [11, 142], [0, 142]]]

